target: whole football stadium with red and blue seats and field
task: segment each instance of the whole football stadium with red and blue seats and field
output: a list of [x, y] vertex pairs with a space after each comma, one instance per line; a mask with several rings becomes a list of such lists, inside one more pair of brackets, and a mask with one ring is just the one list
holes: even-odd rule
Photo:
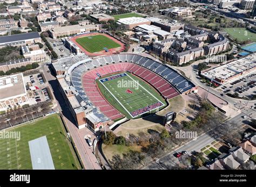
[[53, 63], [78, 128], [96, 132], [124, 118], [144, 117], [197, 90], [176, 70], [137, 54], [78, 57]]

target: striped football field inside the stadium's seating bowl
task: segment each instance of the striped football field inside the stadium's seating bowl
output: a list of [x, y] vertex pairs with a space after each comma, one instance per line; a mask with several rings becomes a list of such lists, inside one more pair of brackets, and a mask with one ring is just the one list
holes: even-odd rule
[[[126, 75], [109, 81], [104, 80], [105, 78], [113, 75], [100, 78], [97, 80], [97, 84], [108, 102], [127, 118], [138, 118], [142, 113], [149, 113], [149, 111], [143, 111], [139, 114], [132, 112], [152, 104], [161, 103], [161, 105], [154, 109], [153, 107], [147, 108], [147, 110], [151, 110], [152, 113], [157, 110], [161, 110], [166, 106], [166, 102], [163, 97], [161, 97], [159, 93], [151, 87], [151, 85], [130, 73], [126, 72], [123, 74]], [[114, 75], [120, 75], [120, 73]], [[127, 89], [131, 92], [127, 93]]]

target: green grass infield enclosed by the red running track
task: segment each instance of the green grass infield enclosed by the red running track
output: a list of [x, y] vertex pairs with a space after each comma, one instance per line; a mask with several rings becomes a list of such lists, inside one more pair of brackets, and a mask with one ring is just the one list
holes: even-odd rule
[[119, 44], [105, 37], [104, 35], [92, 35], [88, 37], [76, 39], [79, 45], [81, 45], [87, 52], [96, 53], [107, 49], [121, 47]]

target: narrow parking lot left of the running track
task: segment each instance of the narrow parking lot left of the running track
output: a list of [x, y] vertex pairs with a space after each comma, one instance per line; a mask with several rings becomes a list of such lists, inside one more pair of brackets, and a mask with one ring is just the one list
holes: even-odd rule
[[65, 47], [61, 39], [47, 38], [53, 50], [58, 54], [59, 57], [68, 57], [73, 55], [68, 48]]

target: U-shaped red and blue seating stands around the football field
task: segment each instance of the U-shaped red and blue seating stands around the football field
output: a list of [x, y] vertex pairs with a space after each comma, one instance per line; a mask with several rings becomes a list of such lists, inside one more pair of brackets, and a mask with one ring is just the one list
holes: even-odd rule
[[195, 85], [170, 67], [136, 54], [117, 54], [97, 57], [86, 63], [79, 63], [70, 69], [73, 86], [84, 102], [97, 107], [107, 118], [123, 117], [100, 94], [96, 78], [107, 74], [129, 71], [145, 80], [158, 90], [165, 99], [190, 92]]

